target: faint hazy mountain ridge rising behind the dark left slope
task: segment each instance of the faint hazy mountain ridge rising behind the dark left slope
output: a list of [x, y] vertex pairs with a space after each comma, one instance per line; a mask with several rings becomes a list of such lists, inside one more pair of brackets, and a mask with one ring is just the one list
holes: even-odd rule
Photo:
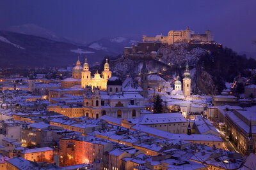
[[20, 34], [40, 36], [42, 38], [51, 39], [53, 41], [72, 43], [74, 45], [86, 45], [86, 42], [63, 38], [61, 36], [58, 36], [58, 34], [56, 34], [55, 32], [52, 32], [35, 24], [15, 25], [10, 27], [8, 31], [17, 32]]

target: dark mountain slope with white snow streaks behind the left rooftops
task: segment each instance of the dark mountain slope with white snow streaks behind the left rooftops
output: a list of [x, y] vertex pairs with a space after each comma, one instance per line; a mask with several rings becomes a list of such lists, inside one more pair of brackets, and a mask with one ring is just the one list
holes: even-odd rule
[[67, 66], [74, 64], [80, 55], [81, 62], [86, 55], [88, 62], [93, 64], [106, 55], [115, 56], [115, 53], [39, 36], [0, 31], [0, 67]]

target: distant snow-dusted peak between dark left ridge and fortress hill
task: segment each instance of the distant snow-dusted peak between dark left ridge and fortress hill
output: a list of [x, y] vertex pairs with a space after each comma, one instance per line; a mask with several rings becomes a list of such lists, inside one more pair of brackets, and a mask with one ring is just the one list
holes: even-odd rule
[[106, 52], [113, 52], [116, 54], [122, 54], [125, 46], [131, 46], [132, 43], [137, 43], [140, 40], [138, 38], [125, 38], [121, 36], [102, 38], [97, 41], [89, 43], [87, 47], [95, 50], [104, 50]]

